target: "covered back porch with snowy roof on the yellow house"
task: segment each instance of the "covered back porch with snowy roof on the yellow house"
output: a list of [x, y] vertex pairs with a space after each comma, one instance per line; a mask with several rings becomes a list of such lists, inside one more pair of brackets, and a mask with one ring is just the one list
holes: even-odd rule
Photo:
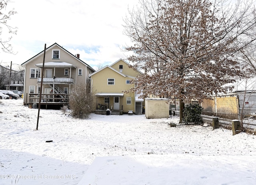
[[112, 114], [123, 114], [124, 93], [96, 93], [96, 114], [106, 114], [110, 109]]

